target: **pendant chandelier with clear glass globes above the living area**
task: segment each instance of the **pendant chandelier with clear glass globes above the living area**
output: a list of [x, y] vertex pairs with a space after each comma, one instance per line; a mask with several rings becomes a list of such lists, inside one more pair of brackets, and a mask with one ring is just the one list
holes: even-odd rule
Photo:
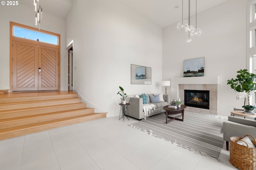
[[[196, 0], [196, 24], [197, 24], [197, 0]], [[196, 28], [193, 25], [190, 25], [190, 0], [188, 0], [188, 21], [183, 20], [183, 0], [182, 0], [182, 20], [178, 22], [177, 29], [184, 30], [185, 33], [188, 34], [187, 43], [190, 43], [192, 41], [191, 37], [200, 37], [202, 34], [202, 29], [198, 28], [196, 25]]]

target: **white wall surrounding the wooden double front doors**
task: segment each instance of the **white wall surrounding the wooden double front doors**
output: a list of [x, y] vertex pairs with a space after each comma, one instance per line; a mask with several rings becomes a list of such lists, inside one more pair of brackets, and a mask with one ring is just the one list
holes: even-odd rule
[[[22, 4], [18, 6], [0, 5], [0, 89], [10, 89], [10, 21], [36, 27], [34, 8]], [[65, 73], [65, 20], [43, 13], [40, 29], [60, 34], [60, 84], [61, 90], [67, 89], [67, 73]]]

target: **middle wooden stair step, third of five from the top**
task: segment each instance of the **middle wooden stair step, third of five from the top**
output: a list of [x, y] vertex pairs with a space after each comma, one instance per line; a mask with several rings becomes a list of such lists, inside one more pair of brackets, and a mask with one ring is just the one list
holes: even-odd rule
[[50, 113], [52, 111], [66, 111], [71, 109], [86, 108], [86, 103], [60, 104], [52, 106], [28, 107], [22, 109], [1, 110], [0, 119], [8, 119], [14, 117], [36, 115], [42, 113]]

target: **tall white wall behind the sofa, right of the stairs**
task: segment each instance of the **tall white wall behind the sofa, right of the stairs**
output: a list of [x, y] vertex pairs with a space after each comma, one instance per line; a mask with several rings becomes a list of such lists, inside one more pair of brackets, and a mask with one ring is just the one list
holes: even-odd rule
[[[162, 29], [116, 0], [73, 0], [66, 46], [74, 40], [74, 90], [95, 112], [119, 115], [127, 94], [162, 92]], [[130, 64], [152, 68], [152, 84], [130, 84]]]

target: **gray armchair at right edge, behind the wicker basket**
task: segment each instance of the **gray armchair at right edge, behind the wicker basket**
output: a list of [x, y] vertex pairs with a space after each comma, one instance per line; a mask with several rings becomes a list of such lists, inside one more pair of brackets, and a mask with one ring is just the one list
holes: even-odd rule
[[229, 148], [230, 137], [256, 137], [256, 121], [240, 117], [228, 116], [228, 121], [223, 122], [223, 140], [226, 141], [226, 150]]

